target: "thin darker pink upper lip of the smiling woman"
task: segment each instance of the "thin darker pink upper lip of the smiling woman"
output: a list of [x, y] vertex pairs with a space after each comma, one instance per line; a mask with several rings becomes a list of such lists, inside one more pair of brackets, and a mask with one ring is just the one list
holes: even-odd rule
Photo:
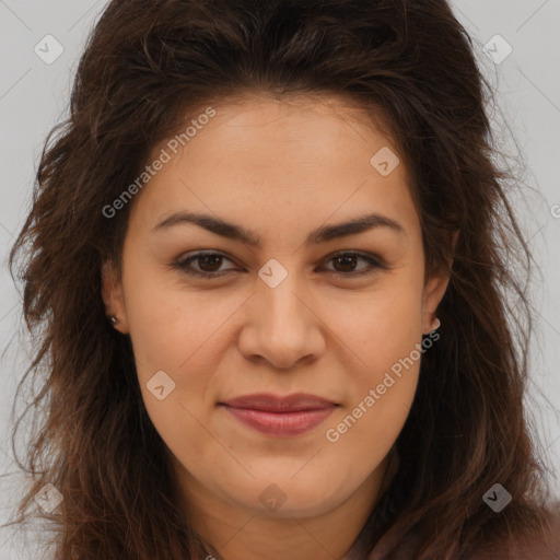
[[243, 395], [219, 404], [232, 408], [250, 408], [269, 412], [298, 412], [337, 406], [336, 402], [308, 393], [294, 393], [285, 396], [272, 395], [271, 393], [256, 393], [254, 395]]

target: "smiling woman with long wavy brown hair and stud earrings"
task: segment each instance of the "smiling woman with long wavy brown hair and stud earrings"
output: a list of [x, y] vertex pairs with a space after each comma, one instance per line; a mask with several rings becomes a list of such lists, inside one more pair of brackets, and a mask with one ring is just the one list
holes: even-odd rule
[[57, 559], [557, 558], [487, 94], [444, 0], [109, 3], [11, 254]]

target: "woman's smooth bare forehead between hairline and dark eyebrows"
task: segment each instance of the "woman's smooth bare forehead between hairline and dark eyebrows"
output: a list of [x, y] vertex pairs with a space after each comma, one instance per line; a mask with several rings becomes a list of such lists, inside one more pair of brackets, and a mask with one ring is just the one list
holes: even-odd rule
[[[340, 97], [247, 97], [211, 107], [214, 116], [188, 141], [175, 140], [172, 150], [172, 137], [152, 150], [150, 161], [162, 150], [171, 160], [135, 200], [143, 222], [176, 209], [234, 214], [245, 224], [264, 218], [269, 228], [275, 219], [285, 226], [365, 209], [415, 220], [407, 170], [380, 115]], [[189, 112], [185, 125], [202, 113]]]

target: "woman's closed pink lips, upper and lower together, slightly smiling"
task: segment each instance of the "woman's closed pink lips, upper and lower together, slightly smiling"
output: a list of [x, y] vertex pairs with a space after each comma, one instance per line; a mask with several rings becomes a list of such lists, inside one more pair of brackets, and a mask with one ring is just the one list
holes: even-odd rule
[[289, 438], [300, 435], [320, 424], [337, 406], [315, 395], [298, 393], [279, 397], [260, 393], [225, 402], [237, 420], [260, 433]]

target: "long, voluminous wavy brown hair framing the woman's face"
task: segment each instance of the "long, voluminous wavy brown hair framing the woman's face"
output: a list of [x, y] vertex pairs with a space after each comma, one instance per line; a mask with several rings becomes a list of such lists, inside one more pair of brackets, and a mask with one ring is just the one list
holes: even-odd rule
[[[186, 114], [244, 92], [339, 94], [381, 112], [411, 177], [427, 275], [451, 273], [441, 338], [422, 358], [397, 441], [404, 498], [394, 522], [421, 536], [416, 557], [542, 534], [546, 487], [523, 406], [530, 254], [504, 194], [510, 177], [493, 159], [490, 90], [445, 0], [108, 4], [10, 254], [13, 275], [27, 249], [18, 273], [39, 340], [20, 387], [45, 375], [26, 411], [46, 417], [20, 462], [35, 482], [19, 513], [30, 515], [46, 483], [61, 492], [49, 516], [57, 559], [203, 558], [143, 406], [130, 340], [105, 316], [102, 266], [120, 264], [130, 205], [112, 218], [103, 209]], [[497, 482], [513, 497], [499, 514], [482, 501]]]

